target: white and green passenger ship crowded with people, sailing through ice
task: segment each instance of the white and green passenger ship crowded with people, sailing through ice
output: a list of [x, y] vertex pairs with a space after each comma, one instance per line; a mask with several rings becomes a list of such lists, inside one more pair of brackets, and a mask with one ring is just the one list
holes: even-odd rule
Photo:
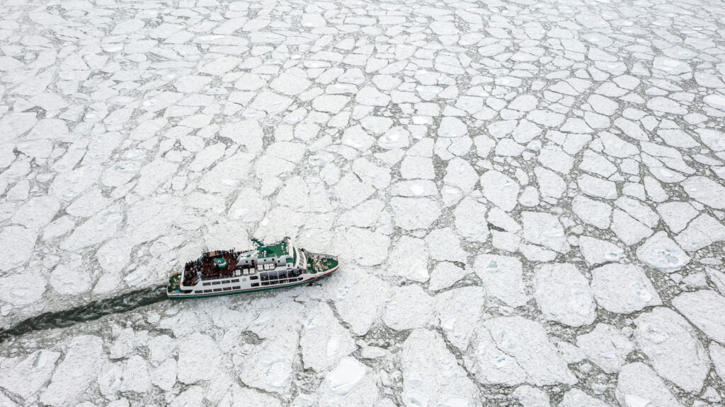
[[256, 248], [202, 253], [169, 277], [169, 298], [204, 298], [254, 293], [307, 284], [339, 268], [338, 256], [312, 253], [294, 246], [289, 237], [266, 245], [252, 239]]

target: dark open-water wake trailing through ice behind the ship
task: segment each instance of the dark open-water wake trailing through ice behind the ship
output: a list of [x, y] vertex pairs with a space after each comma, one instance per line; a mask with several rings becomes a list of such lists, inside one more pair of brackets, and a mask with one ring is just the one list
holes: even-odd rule
[[28, 332], [65, 328], [79, 322], [93, 321], [108, 314], [120, 314], [137, 309], [140, 306], [164, 301], [166, 298], [166, 285], [159, 285], [153, 288], [131, 291], [117, 297], [92, 301], [64, 311], [46, 312], [46, 314], [40, 314], [18, 322], [7, 330], [0, 330], [0, 343]]

